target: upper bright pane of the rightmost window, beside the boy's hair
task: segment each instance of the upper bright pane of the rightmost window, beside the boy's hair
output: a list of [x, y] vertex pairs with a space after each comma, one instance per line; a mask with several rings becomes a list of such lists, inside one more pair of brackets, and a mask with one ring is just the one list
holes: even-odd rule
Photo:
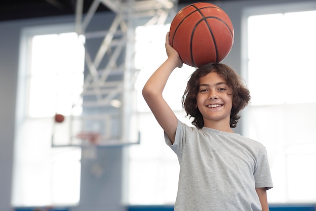
[[[316, 102], [316, 11], [248, 18], [252, 105]], [[299, 96], [299, 99], [298, 99]]]

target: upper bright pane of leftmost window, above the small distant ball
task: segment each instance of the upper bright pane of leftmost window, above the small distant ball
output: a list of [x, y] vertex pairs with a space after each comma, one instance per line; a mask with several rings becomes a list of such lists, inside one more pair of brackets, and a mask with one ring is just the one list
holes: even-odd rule
[[72, 113], [72, 105], [80, 101], [83, 89], [83, 41], [74, 32], [32, 38], [30, 117]]

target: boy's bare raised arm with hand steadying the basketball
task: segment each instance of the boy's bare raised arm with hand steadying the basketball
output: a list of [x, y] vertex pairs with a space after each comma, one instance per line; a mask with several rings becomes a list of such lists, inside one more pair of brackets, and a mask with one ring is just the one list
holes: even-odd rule
[[178, 52], [169, 43], [169, 33], [166, 35], [166, 51], [168, 59], [150, 76], [142, 94], [156, 120], [162, 126], [172, 143], [174, 143], [177, 117], [163, 98], [167, 80], [176, 67], [182, 66]]

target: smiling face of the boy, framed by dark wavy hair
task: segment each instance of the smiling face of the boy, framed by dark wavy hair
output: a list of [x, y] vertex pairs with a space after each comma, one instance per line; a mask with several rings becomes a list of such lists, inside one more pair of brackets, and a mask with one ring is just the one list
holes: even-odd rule
[[199, 92], [196, 96], [197, 107], [204, 120], [204, 126], [229, 126], [232, 110], [231, 89], [226, 80], [216, 72], [199, 78]]

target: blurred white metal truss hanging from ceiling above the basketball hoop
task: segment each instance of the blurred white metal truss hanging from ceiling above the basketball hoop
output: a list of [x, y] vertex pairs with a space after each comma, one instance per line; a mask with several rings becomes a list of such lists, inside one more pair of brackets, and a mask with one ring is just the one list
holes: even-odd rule
[[[150, 18], [147, 24], [164, 24], [170, 13], [174, 15], [174, 0], [141, 0], [141, 1], [116, 1], [116, 0], [95, 0], [90, 6], [87, 14], [83, 18], [82, 8], [83, 1], [77, 1], [76, 11], [76, 30], [78, 34], [86, 35], [86, 38], [96, 36], [100, 32], [86, 32], [86, 29], [96, 13], [96, 10], [100, 4], [104, 4], [110, 8], [116, 17], [112, 22], [112, 25], [105, 32], [106, 35], [99, 47], [98, 52], [94, 58], [86, 50], [85, 62], [89, 70], [89, 75], [85, 77], [83, 95], [95, 95], [96, 100], [93, 102], [84, 102], [85, 105], [97, 106], [109, 104], [113, 98], [122, 91], [124, 91], [123, 81], [111, 81], [107, 82], [108, 77], [112, 73], [120, 74], [131, 69], [126, 70], [125, 64], [117, 66], [116, 61], [121, 56], [122, 51], [128, 45], [127, 42], [133, 42], [133, 39], [127, 39], [128, 27], [132, 27], [133, 20], [137, 20], [139, 17]], [[132, 26], [131, 26], [132, 25]], [[115, 39], [115, 35], [120, 35], [119, 39]], [[111, 49], [115, 47], [115, 51], [111, 52], [111, 58], [108, 60], [108, 64], [104, 68], [99, 68], [99, 65]], [[126, 50], [126, 49], [125, 49]], [[133, 59], [133, 58], [130, 58]], [[131, 61], [132, 62], [132, 61]], [[116, 85], [113, 87], [114, 83]], [[110, 87], [111, 91], [105, 91]], [[103, 89], [105, 88], [105, 89]], [[108, 95], [106, 95], [108, 94]]]

